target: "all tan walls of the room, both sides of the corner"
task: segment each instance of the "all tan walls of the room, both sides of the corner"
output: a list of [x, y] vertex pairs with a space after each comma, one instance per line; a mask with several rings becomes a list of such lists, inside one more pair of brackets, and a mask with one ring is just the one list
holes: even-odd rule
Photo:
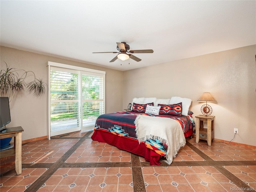
[[[216, 116], [215, 138], [232, 140], [238, 128], [233, 141], [256, 146], [255, 54], [254, 45], [121, 72], [1, 46], [0, 67], [5, 67], [5, 61], [44, 80], [48, 61], [106, 71], [106, 113], [127, 108], [134, 97], [181, 96], [192, 99], [190, 110], [196, 116], [203, 104], [196, 100], [202, 92], [211, 92], [217, 100], [210, 104]], [[46, 136], [46, 106], [46, 95], [16, 95], [10, 104], [9, 126], [24, 128], [22, 140]]]

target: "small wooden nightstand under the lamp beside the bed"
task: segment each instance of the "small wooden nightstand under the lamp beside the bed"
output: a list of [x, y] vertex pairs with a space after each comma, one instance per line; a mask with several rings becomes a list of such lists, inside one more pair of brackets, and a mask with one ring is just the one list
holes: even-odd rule
[[[196, 116], [196, 142], [199, 139], [206, 140], [208, 146], [212, 145], [214, 141], [214, 119], [215, 116]], [[207, 123], [207, 128], [204, 128], [204, 124]]]

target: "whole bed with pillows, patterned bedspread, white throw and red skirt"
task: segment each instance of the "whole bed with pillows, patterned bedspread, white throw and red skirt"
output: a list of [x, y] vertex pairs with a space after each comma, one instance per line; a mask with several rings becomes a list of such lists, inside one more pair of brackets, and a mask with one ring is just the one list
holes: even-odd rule
[[[194, 120], [192, 118], [192, 112], [188, 110], [186, 111], [186, 108], [189, 108], [191, 101], [189, 106], [185, 107], [184, 100], [184, 104], [182, 105], [182, 102], [179, 102], [180, 100], [178, 100], [179, 103], [177, 104], [170, 104], [171, 102], [177, 102], [176, 100], [171, 101], [172, 98], [167, 100], [143, 98], [143, 101], [142, 98], [139, 99], [140, 100], [138, 100], [138, 98], [133, 99], [131, 111], [100, 115], [96, 120], [94, 133], [92, 134], [91, 138], [92, 140], [105, 142], [116, 146], [121, 150], [143, 156], [146, 161], [150, 162], [150, 165], [160, 165], [160, 158], [166, 158], [166, 160], [168, 160], [166, 162], [170, 164], [172, 162], [172, 158], [175, 157], [178, 152], [178, 150], [175, 150], [174, 154], [169, 154], [172, 146], [175, 146], [174, 142], [172, 142], [172, 140], [169, 142], [168, 140], [162, 140], [161, 138], [165, 138], [165, 136], [157, 137], [155, 135], [157, 135], [157, 132], [159, 132], [159, 130], [161, 130], [166, 124], [168, 125], [166, 130], [172, 130], [173, 132], [173, 129], [170, 126], [172, 123], [174, 123], [177, 127], [176, 131], [182, 132], [182, 137], [184, 137], [184, 139], [185, 137], [190, 137], [193, 133]], [[138, 104], [138, 102], [141, 102], [142, 104]], [[167, 108], [166, 106], [176, 107], [172, 108], [172, 112], [170, 112], [170, 108], [168, 108], [168, 113], [163, 111], [161, 112], [161, 109]], [[182, 114], [183, 108], [185, 113], [183, 112]], [[178, 115], [176, 114], [177, 109], [178, 113], [180, 113]], [[156, 110], [156, 112], [154, 110]], [[146, 124], [142, 124], [142, 120], [144, 120]], [[160, 124], [160, 122], [163, 122], [163, 120], [164, 124]], [[151, 130], [155, 132], [151, 132], [149, 134], [151, 135], [150, 137], [146, 138], [144, 136], [144, 139], [141, 140], [141, 136], [138, 134], [138, 127], [142, 127], [143, 125], [144, 130], [148, 131], [151, 127]], [[142, 132], [142, 129], [140, 132]], [[172, 132], [170, 134], [168, 132], [168, 134], [165, 135], [168, 135], [169, 137], [172, 135]], [[174, 132], [173, 135], [175, 139], [177, 137], [176, 132]], [[178, 149], [184, 146], [185, 143], [183, 140], [182, 144], [178, 146]]]

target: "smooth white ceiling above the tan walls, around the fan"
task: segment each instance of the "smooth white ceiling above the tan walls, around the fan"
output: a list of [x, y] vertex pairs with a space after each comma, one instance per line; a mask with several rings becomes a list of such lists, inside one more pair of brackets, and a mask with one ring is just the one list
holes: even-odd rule
[[[2, 46], [122, 71], [256, 44], [255, 0], [1, 0], [0, 11]], [[92, 54], [116, 42], [154, 53]]]

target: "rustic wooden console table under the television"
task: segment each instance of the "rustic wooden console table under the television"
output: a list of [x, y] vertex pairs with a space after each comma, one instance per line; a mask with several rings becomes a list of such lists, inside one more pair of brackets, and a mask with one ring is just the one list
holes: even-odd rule
[[0, 134], [0, 139], [14, 137], [14, 148], [0, 151], [0, 169], [1, 174], [12, 169], [12, 156], [15, 156], [15, 171], [17, 175], [21, 174], [22, 162], [21, 162], [21, 150], [22, 150], [22, 127], [7, 128], [6, 132]]

